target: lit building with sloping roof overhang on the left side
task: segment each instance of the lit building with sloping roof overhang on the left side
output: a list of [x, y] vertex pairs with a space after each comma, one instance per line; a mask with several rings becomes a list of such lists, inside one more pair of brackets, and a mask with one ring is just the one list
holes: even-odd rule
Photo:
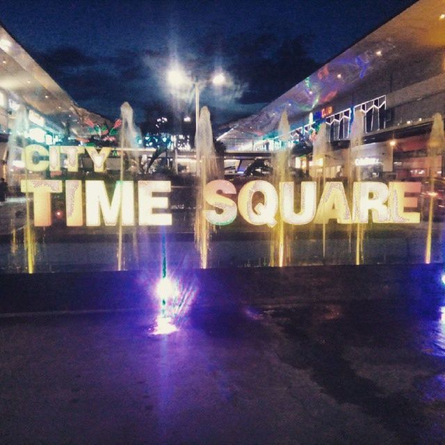
[[[8, 139], [17, 111], [24, 108], [31, 143], [56, 145], [90, 134], [86, 122], [105, 119], [76, 105], [29, 53], [0, 24], [0, 161], [8, 176]], [[9, 172], [10, 173], [10, 172]]]

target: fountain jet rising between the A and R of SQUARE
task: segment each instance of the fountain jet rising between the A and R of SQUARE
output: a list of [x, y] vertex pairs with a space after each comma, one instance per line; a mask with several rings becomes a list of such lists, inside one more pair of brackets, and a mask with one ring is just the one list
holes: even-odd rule
[[[357, 110], [354, 115], [354, 122], [350, 129], [350, 143], [346, 156], [346, 175], [348, 177], [348, 195], [349, 202], [353, 202], [353, 184], [361, 180], [361, 171], [359, 165], [355, 167], [355, 159], [359, 147], [363, 145], [364, 136], [364, 112]], [[355, 168], [354, 168], [355, 167]], [[355, 237], [355, 264], [358, 266], [363, 260], [363, 240], [366, 225], [357, 223], [357, 234]], [[352, 225], [349, 229], [349, 241], [352, 236]]]

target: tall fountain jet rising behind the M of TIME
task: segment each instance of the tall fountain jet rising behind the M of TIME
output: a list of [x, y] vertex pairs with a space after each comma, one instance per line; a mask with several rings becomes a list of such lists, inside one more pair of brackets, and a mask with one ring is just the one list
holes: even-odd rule
[[[124, 102], [120, 107], [120, 116], [122, 119], [122, 127], [120, 129], [120, 181], [124, 180], [124, 149], [128, 150], [130, 163], [134, 165], [137, 161], [135, 160], [133, 151], [136, 152], [138, 149], [138, 131], [133, 122], [133, 108], [131, 108], [128, 102]], [[134, 150], [131, 150], [134, 149]], [[123, 188], [121, 188], [121, 193]], [[136, 252], [135, 257], [138, 258], [138, 232], [135, 228], [133, 230], [133, 253]], [[122, 247], [122, 215], [119, 218], [119, 232], [118, 232], [118, 270], [122, 270], [124, 267], [123, 257], [123, 247]]]

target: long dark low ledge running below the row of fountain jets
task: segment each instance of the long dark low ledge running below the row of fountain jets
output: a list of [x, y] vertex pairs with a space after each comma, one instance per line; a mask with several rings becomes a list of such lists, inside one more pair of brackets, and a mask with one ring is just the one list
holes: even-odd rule
[[[172, 272], [200, 305], [437, 300], [442, 264], [220, 268]], [[156, 272], [156, 273], [155, 273]], [[158, 271], [0, 275], [0, 313], [157, 307]]]

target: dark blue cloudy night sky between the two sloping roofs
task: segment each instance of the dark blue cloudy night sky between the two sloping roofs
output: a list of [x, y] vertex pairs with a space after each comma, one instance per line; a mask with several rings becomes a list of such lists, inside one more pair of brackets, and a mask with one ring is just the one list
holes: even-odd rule
[[412, 0], [1, 0], [0, 22], [60, 86], [115, 118], [127, 100], [145, 110], [193, 112], [191, 90], [172, 91], [180, 63], [229, 84], [202, 92], [221, 123], [258, 111], [316, 67], [410, 6]]

